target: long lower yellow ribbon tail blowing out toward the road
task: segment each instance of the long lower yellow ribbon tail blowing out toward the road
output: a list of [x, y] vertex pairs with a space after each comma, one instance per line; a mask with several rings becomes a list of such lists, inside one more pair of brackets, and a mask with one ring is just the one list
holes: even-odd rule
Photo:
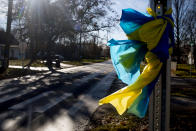
[[145, 58], [148, 64], [136, 82], [101, 99], [99, 101], [100, 105], [110, 103], [121, 115], [133, 104], [135, 99], [142, 93], [142, 89], [157, 77], [162, 67], [162, 63], [153, 53], [147, 52]]

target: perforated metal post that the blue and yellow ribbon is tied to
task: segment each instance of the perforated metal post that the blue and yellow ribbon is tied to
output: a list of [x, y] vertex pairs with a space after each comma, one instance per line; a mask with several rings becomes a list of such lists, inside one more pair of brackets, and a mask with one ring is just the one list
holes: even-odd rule
[[[150, 0], [151, 8], [162, 16], [171, 8], [171, 0]], [[169, 131], [171, 58], [164, 62], [162, 73], [150, 97], [149, 131]]]

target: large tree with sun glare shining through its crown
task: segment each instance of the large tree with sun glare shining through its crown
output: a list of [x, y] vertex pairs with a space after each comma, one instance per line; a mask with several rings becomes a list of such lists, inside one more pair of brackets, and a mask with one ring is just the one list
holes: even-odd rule
[[[24, 8], [22, 18], [18, 17]], [[60, 8], [50, 0], [22, 0], [15, 4], [15, 31], [23, 35], [19, 38], [28, 41], [30, 46], [31, 61], [27, 66], [37, 59], [38, 52], [44, 51], [48, 67], [51, 69], [51, 55], [55, 42], [59, 41], [61, 36], [70, 35], [74, 31], [69, 14], [67, 8]]]

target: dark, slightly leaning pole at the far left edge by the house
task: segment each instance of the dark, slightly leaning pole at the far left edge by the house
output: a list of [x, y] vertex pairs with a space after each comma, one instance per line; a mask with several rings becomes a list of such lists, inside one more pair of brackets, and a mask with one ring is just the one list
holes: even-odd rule
[[9, 48], [10, 48], [10, 32], [11, 32], [11, 23], [12, 23], [12, 7], [13, 7], [13, 0], [9, 0], [8, 1], [8, 14], [7, 14], [7, 27], [6, 27], [6, 45], [4, 48], [4, 60], [3, 60], [0, 73], [5, 72], [9, 66]]

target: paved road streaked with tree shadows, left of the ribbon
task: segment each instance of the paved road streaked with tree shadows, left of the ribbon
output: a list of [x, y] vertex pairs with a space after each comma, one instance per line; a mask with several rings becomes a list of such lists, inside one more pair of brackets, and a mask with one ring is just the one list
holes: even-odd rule
[[82, 131], [114, 79], [106, 61], [1, 80], [0, 130]]

